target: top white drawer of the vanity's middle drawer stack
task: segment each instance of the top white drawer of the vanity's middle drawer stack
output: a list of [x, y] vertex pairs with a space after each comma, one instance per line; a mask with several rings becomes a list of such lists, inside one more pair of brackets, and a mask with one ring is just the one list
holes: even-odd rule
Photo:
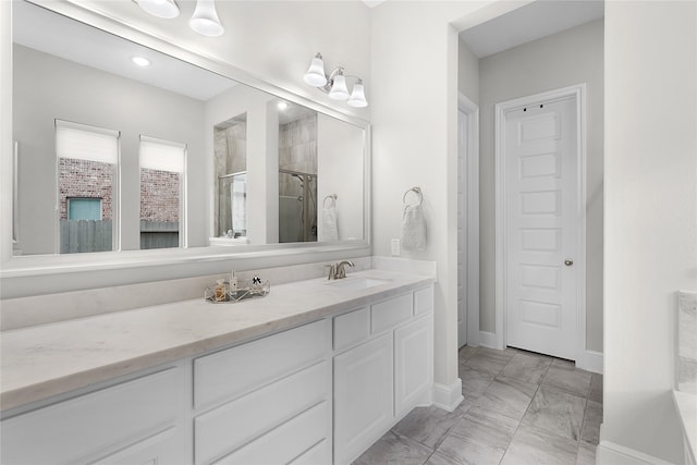
[[239, 397], [321, 360], [329, 338], [329, 321], [321, 320], [195, 359], [195, 407]]

